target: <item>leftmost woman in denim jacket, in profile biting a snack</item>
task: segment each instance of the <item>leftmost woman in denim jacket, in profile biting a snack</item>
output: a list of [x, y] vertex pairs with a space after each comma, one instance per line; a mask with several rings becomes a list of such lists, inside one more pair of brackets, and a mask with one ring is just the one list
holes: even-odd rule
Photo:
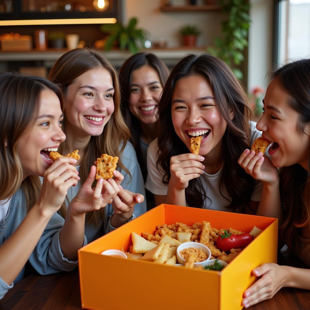
[[55, 213], [80, 179], [75, 159], [52, 162], [47, 155], [66, 138], [62, 107], [62, 92], [53, 83], [0, 75], [0, 299], [24, 278], [27, 261], [42, 275], [71, 271], [86, 244], [79, 216], [71, 213], [64, 224]]

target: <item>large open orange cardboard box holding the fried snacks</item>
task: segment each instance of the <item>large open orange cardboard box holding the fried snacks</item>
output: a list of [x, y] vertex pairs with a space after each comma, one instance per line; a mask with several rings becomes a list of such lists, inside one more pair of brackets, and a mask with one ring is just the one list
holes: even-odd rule
[[[158, 224], [209, 221], [215, 228], [263, 229], [221, 272], [193, 270], [100, 255], [129, 249], [131, 232], [154, 233]], [[254, 215], [160, 205], [79, 250], [82, 308], [242, 309], [242, 294], [255, 281], [251, 270], [277, 262], [278, 220]]]

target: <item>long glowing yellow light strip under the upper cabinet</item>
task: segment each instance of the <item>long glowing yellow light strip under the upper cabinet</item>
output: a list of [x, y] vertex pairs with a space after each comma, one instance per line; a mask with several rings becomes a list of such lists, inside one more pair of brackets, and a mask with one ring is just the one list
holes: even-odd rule
[[115, 24], [116, 18], [71, 18], [51, 20], [0, 20], [0, 26]]

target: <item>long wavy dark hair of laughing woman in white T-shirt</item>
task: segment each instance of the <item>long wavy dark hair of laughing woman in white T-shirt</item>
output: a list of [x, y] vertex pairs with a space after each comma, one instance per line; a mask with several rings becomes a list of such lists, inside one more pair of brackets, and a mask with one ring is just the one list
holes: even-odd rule
[[[188, 55], [172, 70], [162, 92], [158, 106], [158, 165], [166, 174], [163, 183], [168, 184], [170, 174], [170, 158], [188, 153], [188, 148], [175, 133], [171, 119], [171, 99], [175, 83], [184, 77], [201, 75], [212, 87], [219, 111], [227, 123], [224, 133], [223, 155], [224, 168], [219, 183], [221, 195], [226, 188], [231, 200], [228, 208], [245, 212], [249, 206], [250, 197], [254, 189], [254, 179], [238, 164], [238, 158], [245, 148], [250, 147], [250, 123], [252, 110], [249, 107], [246, 93], [229, 67], [218, 58], [211, 55]], [[230, 111], [234, 117], [230, 119]], [[209, 199], [201, 183], [201, 178], [189, 181], [185, 189], [186, 202], [189, 206], [203, 207], [205, 199]], [[233, 186], [232, 186], [233, 184]]]

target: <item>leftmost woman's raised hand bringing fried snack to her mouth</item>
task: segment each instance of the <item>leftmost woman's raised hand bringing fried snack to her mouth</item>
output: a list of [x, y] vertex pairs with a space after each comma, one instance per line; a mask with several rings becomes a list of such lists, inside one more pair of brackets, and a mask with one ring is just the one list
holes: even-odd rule
[[77, 161], [72, 157], [60, 157], [44, 172], [39, 206], [44, 210], [57, 212], [64, 202], [68, 189], [78, 184], [80, 177], [73, 166]]

